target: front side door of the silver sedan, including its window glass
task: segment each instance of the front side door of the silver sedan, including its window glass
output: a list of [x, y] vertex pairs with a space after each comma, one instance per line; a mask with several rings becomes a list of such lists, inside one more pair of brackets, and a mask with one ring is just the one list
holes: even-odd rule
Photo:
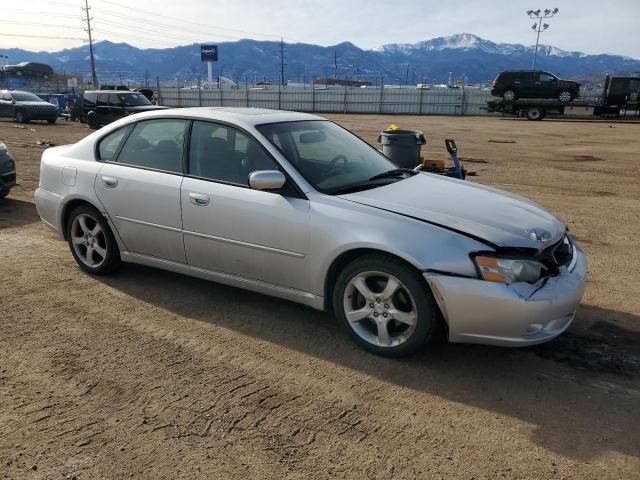
[[274, 169], [276, 162], [246, 133], [193, 122], [181, 194], [190, 265], [308, 288], [309, 201], [293, 189], [266, 192], [248, 185], [252, 171]]

